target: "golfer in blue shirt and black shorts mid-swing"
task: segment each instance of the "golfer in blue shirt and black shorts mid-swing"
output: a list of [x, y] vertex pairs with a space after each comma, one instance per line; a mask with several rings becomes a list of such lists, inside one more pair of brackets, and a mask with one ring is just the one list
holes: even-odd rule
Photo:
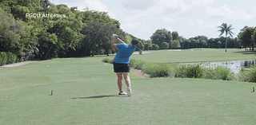
[[[117, 40], [119, 44], [114, 44], [114, 40]], [[118, 38], [118, 35], [113, 34], [111, 38], [111, 47], [118, 48], [118, 53], [114, 57], [114, 72], [118, 76], [118, 95], [131, 96], [131, 84], [130, 84], [130, 55], [134, 53], [138, 45], [138, 39], [133, 39], [129, 45]], [[122, 76], [126, 80], [127, 93], [122, 90]]]

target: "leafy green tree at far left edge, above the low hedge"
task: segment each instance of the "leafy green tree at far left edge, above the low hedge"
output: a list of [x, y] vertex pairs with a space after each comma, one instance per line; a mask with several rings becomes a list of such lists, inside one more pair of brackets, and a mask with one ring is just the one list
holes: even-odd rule
[[22, 58], [23, 50], [30, 45], [30, 41], [26, 41], [26, 25], [1, 8], [0, 24], [0, 52], [13, 52]]

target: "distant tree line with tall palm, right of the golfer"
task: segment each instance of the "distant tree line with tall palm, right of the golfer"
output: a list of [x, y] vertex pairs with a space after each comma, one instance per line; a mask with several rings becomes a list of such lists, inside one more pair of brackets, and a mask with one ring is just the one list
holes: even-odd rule
[[[254, 51], [254, 44], [256, 43], [256, 27], [245, 26], [238, 33], [238, 37], [233, 37], [231, 31], [232, 25], [222, 23], [218, 26], [220, 32], [219, 37], [208, 38], [206, 36], [190, 37], [186, 39], [178, 35], [177, 31], [170, 32], [166, 29], [157, 29], [150, 37], [150, 43], [159, 46], [159, 49], [194, 49], [194, 48], [250, 48]], [[225, 37], [222, 34], [225, 33]], [[148, 43], [146, 43], [148, 44]], [[145, 48], [146, 49], [146, 48]]]

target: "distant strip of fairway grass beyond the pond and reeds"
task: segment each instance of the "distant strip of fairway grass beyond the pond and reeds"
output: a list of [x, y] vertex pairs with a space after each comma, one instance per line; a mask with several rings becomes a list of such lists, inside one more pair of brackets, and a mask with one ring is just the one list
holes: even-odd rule
[[207, 61], [236, 61], [251, 60], [256, 58], [256, 53], [242, 49], [186, 49], [182, 51], [144, 51], [149, 52], [142, 55], [133, 54], [131, 57], [136, 60], [159, 63], [188, 63]]

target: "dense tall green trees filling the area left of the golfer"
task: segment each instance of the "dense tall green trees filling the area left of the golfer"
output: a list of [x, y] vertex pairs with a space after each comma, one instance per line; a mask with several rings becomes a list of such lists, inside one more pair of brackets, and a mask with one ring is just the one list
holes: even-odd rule
[[111, 35], [129, 36], [106, 12], [49, 0], [0, 1], [0, 28], [0, 52], [15, 53], [20, 61], [115, 53]]

